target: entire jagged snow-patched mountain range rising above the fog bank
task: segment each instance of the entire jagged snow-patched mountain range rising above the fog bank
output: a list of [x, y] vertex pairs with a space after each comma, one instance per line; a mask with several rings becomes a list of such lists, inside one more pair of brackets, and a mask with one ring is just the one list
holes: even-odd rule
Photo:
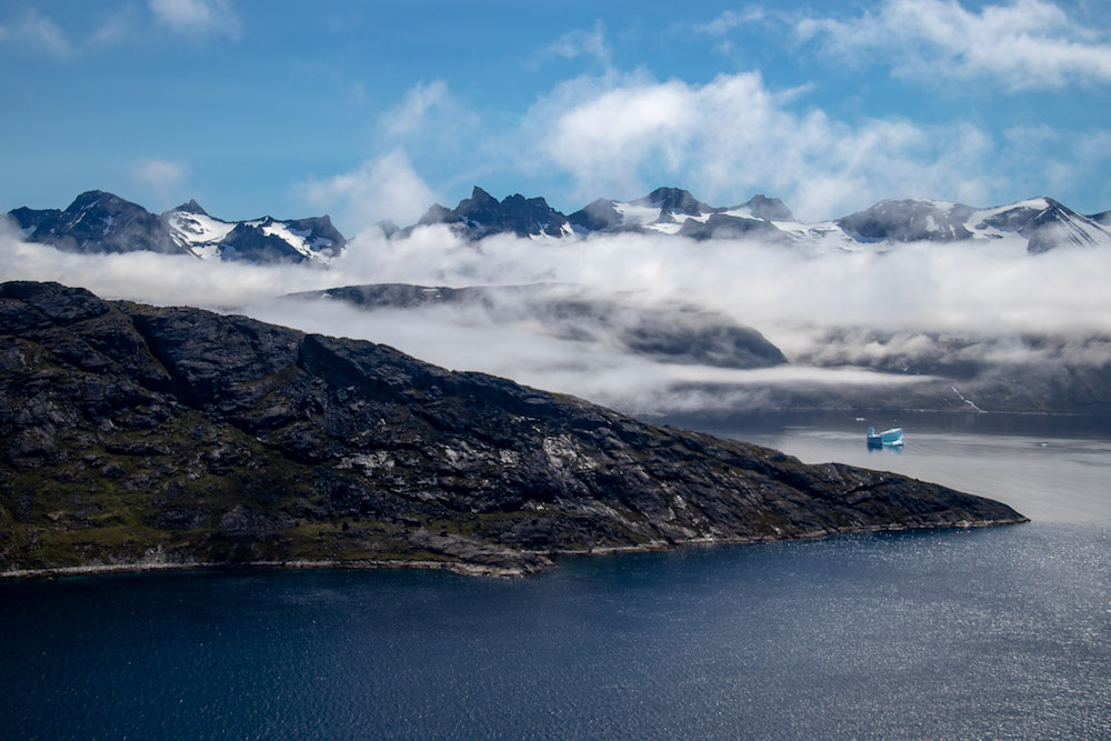
[[[24, 239], [78, 252], [150, 250], [203, 259], [327, 263], [347, 239], [329, 217], [271, 217], [223, 221], [196, 200], [162, 214], [111, 193], [81, 193], [64, 210], [18, 208], [8, 218]], [[754, 196], [739, 206], [712, 207], [678, 188], [658, 188], [632, 201], [595, 200], [563, 214], [543, 198], [509, 196], [499, 201], [476, 187], [453, 209], [433, 204], [416, 224], [380, 222], [390, 239], [446, 227], [466, 241], [496, 234], [538, 240], [579, 240], [598, 234], [642, 233], [692, 240], [758, 239], [775, 244], [813, 244], [857, 251], [904, 242], [990, 241], [1017, 236], [1031, 254], [1059, 247], [1111, 246], [1111, 211], [1081, 214], [1051, 198], [991, 208], [951, 201], [881, 201], [832, 221], [804, 223], [777, 198]]]

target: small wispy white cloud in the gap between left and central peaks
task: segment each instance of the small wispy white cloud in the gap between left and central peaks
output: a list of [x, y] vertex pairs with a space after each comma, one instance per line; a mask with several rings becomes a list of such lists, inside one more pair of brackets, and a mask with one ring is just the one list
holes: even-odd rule
[[296, 190], [314, 208], [357, 230], [383, 219], [412, 223], [436, 200], [401, 149], [367, 160], [351, 172], [302, 182]]

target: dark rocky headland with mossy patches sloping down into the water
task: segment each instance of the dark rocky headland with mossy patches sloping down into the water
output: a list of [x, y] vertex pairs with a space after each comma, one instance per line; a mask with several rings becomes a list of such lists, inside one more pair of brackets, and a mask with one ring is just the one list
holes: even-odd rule
[[370, 342], [0, 284], [0, 569], [420, 562], [1022, 521]]

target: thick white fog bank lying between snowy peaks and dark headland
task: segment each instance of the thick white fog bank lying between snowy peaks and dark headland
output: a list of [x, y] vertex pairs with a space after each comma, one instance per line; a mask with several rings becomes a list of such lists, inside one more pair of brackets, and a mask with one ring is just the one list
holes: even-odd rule
[[[1111, 251], [1025, 253], [1025, 240], [862, 246], [693, 242], [618, 234], [538, 241], [512, 236], [469, 244], [444, 227], [386, 240], [370, 229], [327, 268], [199, 261], [148, 252], [86, 256], [0, 236], [0, 279], [56, 280], [111, 299], [188, 304], [397, 347], [454, 370], [479, 370], [630, 411], [759, 405], [777, 384], [891, 385], [923, 375], [865, 370], [884, 357], [930, 362], [1111, 362]], [[557, 337], [544, 318], [501, 307], [433, 306], [373, 312], [333, 300], [280, 297], [366, 283], [568, 283], [621, 292], [628, 313], [675, 302], [759, 330], [791, 368], [737, 370], [631, 354], [604, 332]], [[508, 299], [500, 299], [506, 301]], [[553, 320], [554, 321], [554, 320]], [[1053, 338], [1050, 346], [1025, 336]], [[879, 339], [878, 339], [879, 338]], [[962, 338], [959, 343], [952, 338]], [[879, 366], [877, 364], [879, 363]], [[815, 367], [815, 366], [821, 366]], [[887, 369], [891, 370], [891, 369]], [[728, 388], [708, 399], [690, 387]], [[723, 394], [723, 395], [722, 395]]]

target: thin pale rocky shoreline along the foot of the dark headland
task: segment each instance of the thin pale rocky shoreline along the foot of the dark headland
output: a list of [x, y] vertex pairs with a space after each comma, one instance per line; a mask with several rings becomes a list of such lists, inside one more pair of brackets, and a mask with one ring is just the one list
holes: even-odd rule
[[971, 530], [973, 528], [997, 528], [1013, 524], [1024, 524], [1030, 518], [1020, 517], [1010, 520], [961, 520], [948, 524], [878, 524], [844, 530], [812, 530], [793, 535], [724, 535], [720, 538], [692, 538], [678, 542], [652, 541], [633, 545], [597, 545], [588, 549], [556, 549], [548, 551], [520, 551], [531, 555], [546, 557], [549, 562], [534, 569], [521, 567], [499, 567], [467, 561], [432, 561], [428, 559], [368, 559], [363, 561], [338, 561], [334, 559], [293, 559], [289, 561], [193, 561], [170, 563], [167, 561], [133, 561], [127, 563], [90, 563], [76, 567], [54, 567], [43, 569], [10, 569], [0, 571], [0, 580], [19, 579], [56, 579], [64, 577], [102, 575], [112, 573], [151, 573], [158, 571], [210, 571], [210, 570], [252, 570], [252, 569], [423, 569], [429, 571], [451, 571], [462, 577], [488, 577], [493, 579], [520, 579], [546, 571], [558, 565], [551, 559], [561, 555], [590, 557], [618, 555], [622, 553], [647, 553], [652, 551], [670, 551], [688, 545], [751, 545], [757, 543], [784, 542], [792, 540], [821, 540], [837, 535], [898, 533], [917, 530]]

